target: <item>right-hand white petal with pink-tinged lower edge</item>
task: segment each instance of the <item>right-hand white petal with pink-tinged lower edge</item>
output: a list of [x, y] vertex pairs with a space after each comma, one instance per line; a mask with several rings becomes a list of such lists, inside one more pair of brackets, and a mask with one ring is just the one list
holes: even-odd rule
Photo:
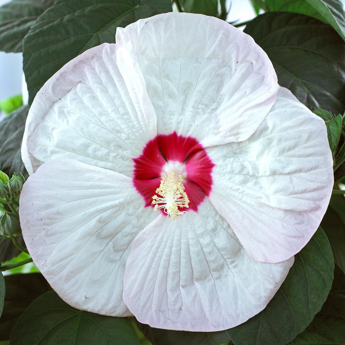
[[216, 165], [210, 200], [252, 258], [279, 262], [307, 244], [333, 187], [321, 118], [281, 88], [252, 137], [207, 153]]

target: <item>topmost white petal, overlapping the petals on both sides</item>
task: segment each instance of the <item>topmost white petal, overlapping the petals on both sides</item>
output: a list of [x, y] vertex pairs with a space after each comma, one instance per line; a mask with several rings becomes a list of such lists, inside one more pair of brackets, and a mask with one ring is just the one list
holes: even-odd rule
[[245, 140], [274, 103], [266, 53], [223, 20], [159, 14], [118, 28], [116, 42], [139, 63], [159, 134], [176, 130], [204, 146]]

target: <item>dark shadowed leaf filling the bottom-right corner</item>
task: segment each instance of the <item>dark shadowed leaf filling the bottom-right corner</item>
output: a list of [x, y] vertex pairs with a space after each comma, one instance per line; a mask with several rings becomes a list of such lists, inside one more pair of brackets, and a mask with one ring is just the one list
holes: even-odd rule
[[338, 267], [334, 269], [334, 281], [321, 311], [306, 330], [289, 345], [345, 344], [345, 275]]

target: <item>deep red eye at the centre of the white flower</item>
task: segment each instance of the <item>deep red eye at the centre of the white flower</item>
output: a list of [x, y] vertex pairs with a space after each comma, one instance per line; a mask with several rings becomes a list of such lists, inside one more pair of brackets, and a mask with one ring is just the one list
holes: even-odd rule
[[198, 205], [211, 192], [214, 164], [195, 138], [177, 135], [176, 132], [157, 135], [146, 144], [142, 154], [133, 160], [133, 183], [144, 198], [145, 207], [152, 204], [152, 197], [156, 195], [162, 175], [172, 170], [177, 175], [181, 172], [189, 199], [189, 207], [183, 208], [183, 211], [197, 211]]

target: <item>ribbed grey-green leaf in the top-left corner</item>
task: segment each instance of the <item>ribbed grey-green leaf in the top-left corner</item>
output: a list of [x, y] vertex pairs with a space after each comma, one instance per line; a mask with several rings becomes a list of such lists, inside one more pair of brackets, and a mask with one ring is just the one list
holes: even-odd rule
[[23, 39], [36, 19], [56, 0], [12, 0], [0, 7], [0, 50], [23, 51]]

